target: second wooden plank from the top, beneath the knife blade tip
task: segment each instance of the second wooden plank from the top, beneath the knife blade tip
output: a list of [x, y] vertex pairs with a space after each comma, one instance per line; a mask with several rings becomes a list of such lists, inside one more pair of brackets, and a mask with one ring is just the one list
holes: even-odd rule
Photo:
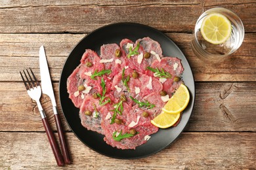
[[[75, 44], [86, 34], [0, 34], [0, 81], [20, 81], [18, 71], [31, 67], [39, 77], [39, 46], [45, 45], [51, 77], [58, 81]], [[188, 59], [196, 81], [255, 81], [256, 33], [247, 33], [238, 51], [223, 63], [198, 59], [190, 46], [191, 34], [167, 34]]]

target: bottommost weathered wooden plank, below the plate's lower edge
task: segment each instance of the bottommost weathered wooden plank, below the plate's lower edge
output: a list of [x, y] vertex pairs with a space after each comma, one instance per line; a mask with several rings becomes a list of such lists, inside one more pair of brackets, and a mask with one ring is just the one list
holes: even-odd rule
[[[170, 146], [139, 160], [102, 156], [67, 133], [69, 169], [255, 169], [256, 133], [182, 133]], [[63, 169], [45, 133], [0, 133], [1, 169]], [[32, 162], [33, 161], [33, 162]], [[121, 167], [120, 167], [121, 166]]]

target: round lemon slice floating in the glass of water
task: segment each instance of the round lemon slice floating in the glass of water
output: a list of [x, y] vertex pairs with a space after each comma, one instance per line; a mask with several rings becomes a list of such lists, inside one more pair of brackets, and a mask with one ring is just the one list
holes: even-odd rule
[[226, 16], [213, 13], [203, 19], [200, 31], [206, 41], [221, 44], [230, 37], [232, 26]]

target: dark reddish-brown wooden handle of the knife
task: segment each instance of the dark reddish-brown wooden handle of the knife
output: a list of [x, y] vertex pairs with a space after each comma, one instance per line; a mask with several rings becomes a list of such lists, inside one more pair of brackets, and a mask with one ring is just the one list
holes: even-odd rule
[[54, 114], [54, 119], [56, 122], [57, 131], [58, 131], [58, 138], [60, 139], [60, 146], [61, 146], [64, 162], [66, 164], [71, 164], [72, 161], [70, 160], [70, 154], [68, 152], [68, 144], [66, 143], [66, 139], [64, 137], [64, 131], [62, 129], [62, 123], [60, 121], [60, 115]]

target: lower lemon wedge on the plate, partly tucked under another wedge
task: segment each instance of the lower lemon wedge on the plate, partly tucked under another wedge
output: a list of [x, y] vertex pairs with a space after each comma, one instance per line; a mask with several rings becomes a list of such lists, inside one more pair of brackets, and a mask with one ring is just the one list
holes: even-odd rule
[[181, 113], [177, 114], [168, 114], [167, 112], [162, 111], [156, 118], [151, 120], [151, 123], [156, 127], [167, 128], [173, 126], [180, 118]]

